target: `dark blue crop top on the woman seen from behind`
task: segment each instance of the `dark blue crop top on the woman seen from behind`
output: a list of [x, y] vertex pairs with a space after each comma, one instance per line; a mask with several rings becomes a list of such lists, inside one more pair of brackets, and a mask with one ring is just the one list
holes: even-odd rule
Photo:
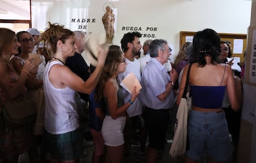
[[[223, 73], [223, 78], [226, 70]], [[221, 84], [223, 81], [221, 80]], [[222, 106], [224, 93], [226, 86], [195, 86], [190, 85], [190, 93], [192, 95], [192, 105], [206, 108], [206, 109], [218, 109]]]

